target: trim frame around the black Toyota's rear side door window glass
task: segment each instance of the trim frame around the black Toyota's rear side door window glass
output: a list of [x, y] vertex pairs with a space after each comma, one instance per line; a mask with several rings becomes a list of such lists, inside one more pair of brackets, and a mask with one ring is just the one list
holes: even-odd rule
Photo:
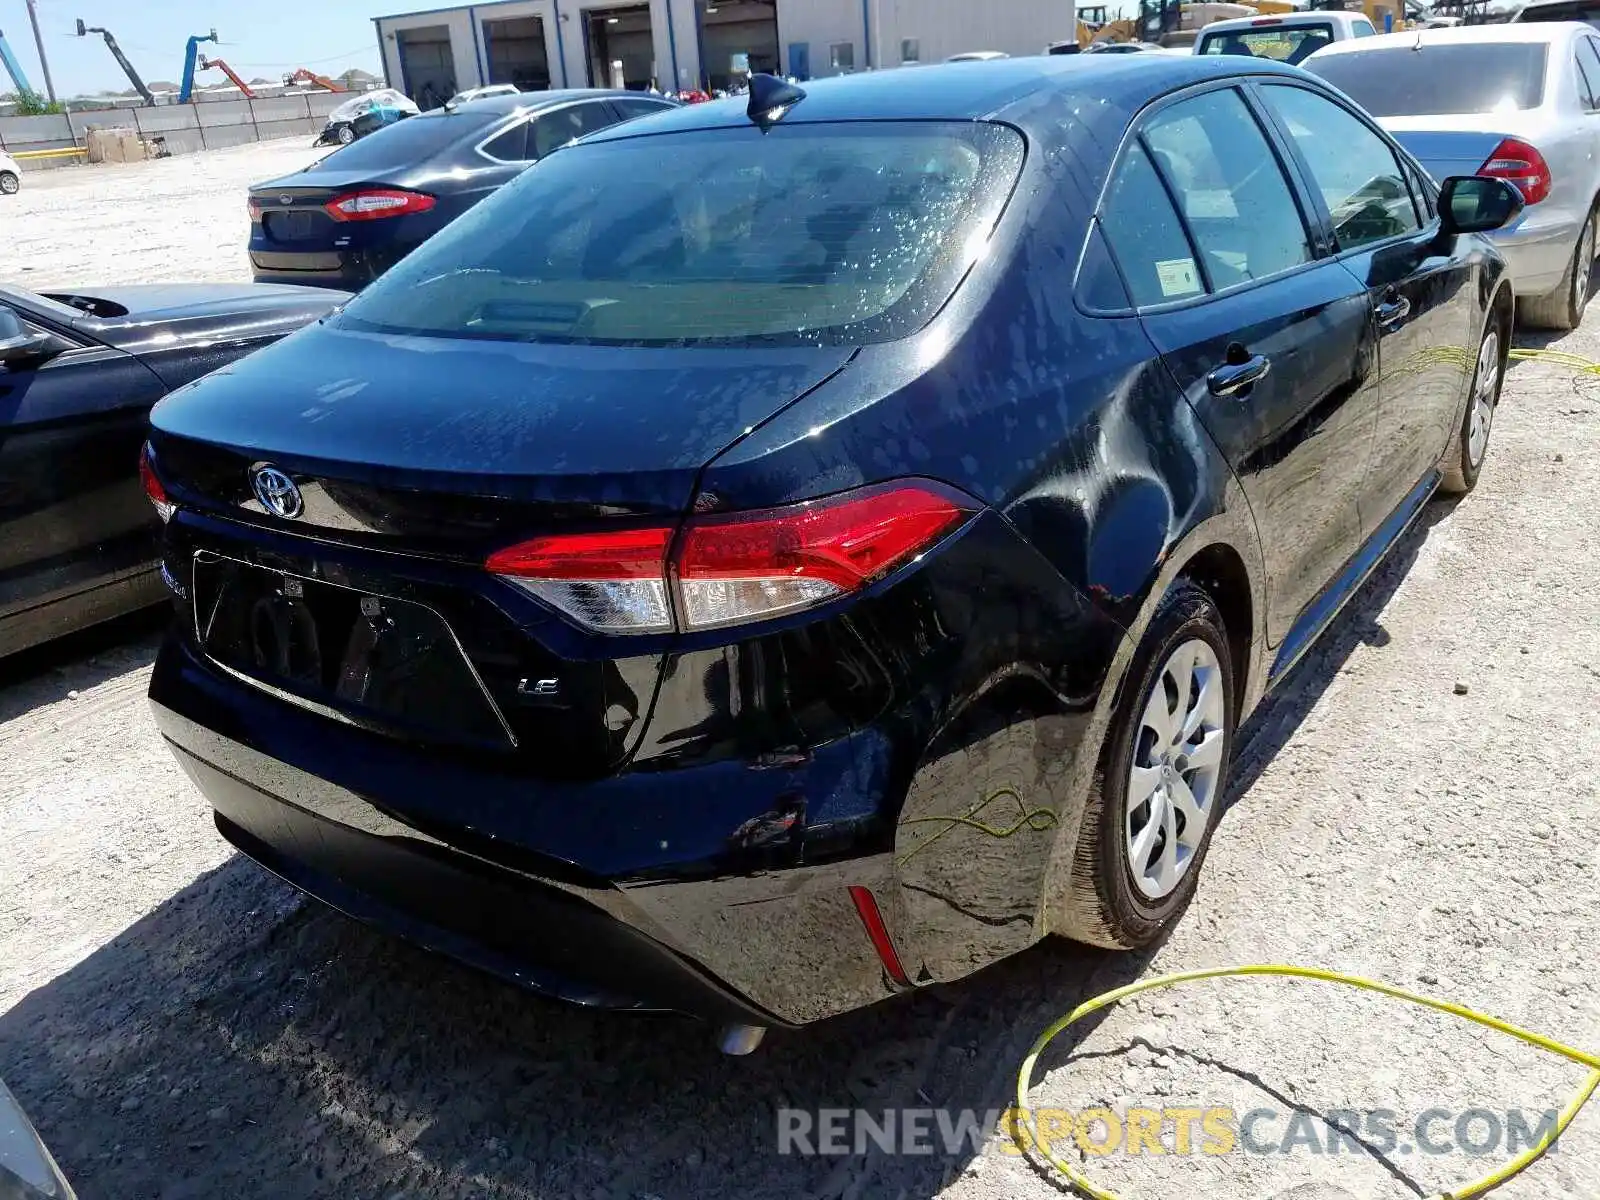
[[[1278, 77], [1272, 75], [1272, 78]], [[1285, 75], [1283, 78], [1288, 77]], [[1122, 278], [1122, 290], [1128, 296], [1128, 307], [1098, 309], [1091, 304], [1086, 304], [1082, 299], [1082, 293], [1078, 288], [1078, 275], [1083, 270], [1085, 253], [1080, 251], [1078, 264], [1072, 274], [1072, 294], [1075, 306], [1083, 315], [1126, 317], [1128, 314], [1174, 312], [1179, 309], [1195, 307], [1198, 304], [1210, 304], [1216, 299], [1242, 296], [1248, 291], [1253, 291], [1254, 288], [1270, 286], [1299, 272], [1314, 270], [1315, 267], [1328, 261], [1330, 246], [1333, 240], [1331, 234], [1328, 232], [1330, 226], [1326, 213], [1322, 211], [1320, 206], [1318, 208], [1312, 206], [1315, 195], [1307, 189], [1306, 176], [1301, 174], [1299, 160], [1290, 157], [1288, 154], [1290, 147], [1283, 144], [1282, 126], [1270, 112], [1262, 110], [1259, 99], [1251, 94], [1251, 83], [1253, 80], [1250, 78], [1224, 78], [1224, 80], [1210, 80], [1206, 83], [1200, 83], [1192, 88], [1184, 88], [1182, 91], [1173, 91], [1165, 96], [1158, 96], [1157, 99], [1146, 104], [1142, 109], [1139, 109], [1138, 114], [1134, 114], [1133, 120], [1128, 122], [1128, 128], [1123, 131], [1123, 139], [1117, 146], [1117, 154], [1112, 158], [1110, 170], [1106, 173], [1106, 179], [1101, 186], [1099, 195], [1094, 198], [1094, 208], [1090, 213], [1090, 219], [1101, 226], [1101, 237], [1106, 242], [1106, 253], [1110, 256], [1112, 266], [1117, 267], [1117, 275]], [[1307, 245], [1310, 246], [1310, 258], [1306, 262], [1296, 262], [1293, 267], [1285, 267], [1283, 270], [1277, 270], [1270, 275], [1262, 275], [1261, 278], [1243, 280], [1242, 283], [1234, 283], [1219, 291], [1211, 290], [1211, 272], [1206, 267], [1205, 261], [1200, 258], [1198, 243], [1195, 242], [1194, 230], [1189, 227], [1189, 218], [1184, 213], [1182, 205], [1178, 203], [1171, 179], [1166, 178], [1166, 171], [1162, 170], [1160, 160], [1154, 154], [1150, 154], [1149, 146], [1144, 142], [1144, 130], [1152, 118], [1158, 117], [1162, 112], [1176, 104], [1195, 99], [1197, 96], [1205, 96], [1206, 93], [1211, 91], [1235, 93], [1243, 102], [1245, 110], [1256, 122], [1256, 128], [1261, 130], [1261, 138], [1270, 147], [1274, 162], [1278, 166], [1278, 173], [1283, 176], [1283, 182], [1288, 184], [1290, 195], [1294, 198], [1294, 206], [1296, 211], [1299, 213], [1301, 224], [1306, 227], [1306, 240]], [[1309, 88], [1309, 91], [1318, 91], [1318, 88], [1312, 86]], [[1189, 248], [1195, 256], [1195, 264], [1200, 270], [1200, 278], [1206, 285], [1206, 290], [1198, 296], [1182, 296], [1178, 299], [1165, 301], [1162, 304], [1138, 304], [1133, 299], [1133, 288], [1128, 285], [1128, 272], [1123, 267], [1122, 261], [1117, 258], [1117, 248], [1112, 243], [1110, 235], [1106, 232], [1106, 200], [1110, 194], [1110, 186], [1117, 178], [1117, 171], [1122, 170], [1123, 160], [1128, 157], [1128, 149], [1134, 142], [1138, 142], [1142, 152], [1150, 158], [1150, 165], [1155, 168], [1155, 174], [1162, 181], [1162, 187], [1166, 190], [1168, 203], [1173, 206], [1173, 213], [1178, 216], [1178, 226], [1179, 229], [1182, 229], [1184, 240], [1189, 243]], [[1085, 248], [1086, 245], [1088, 242], [1085, 240]]]

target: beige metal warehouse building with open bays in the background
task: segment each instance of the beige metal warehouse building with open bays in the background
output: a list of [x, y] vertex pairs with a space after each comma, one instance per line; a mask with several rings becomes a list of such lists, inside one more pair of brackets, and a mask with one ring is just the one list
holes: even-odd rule
[[1038, 54], [1074, 0], [502, 0], [374, 18], [384, 75], [427, 106], [480, 83], [720, 88], [741, 70], [814, 78]]

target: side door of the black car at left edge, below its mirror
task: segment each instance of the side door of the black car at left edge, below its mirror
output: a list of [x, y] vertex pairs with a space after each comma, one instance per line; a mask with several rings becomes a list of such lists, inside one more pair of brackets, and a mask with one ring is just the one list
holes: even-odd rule
[[46, 605], [154, 568], [138, 462], [165, 390], [133, 355], [16, 312], [61, 352], [0, 363], [0, 654], [50, 627]]

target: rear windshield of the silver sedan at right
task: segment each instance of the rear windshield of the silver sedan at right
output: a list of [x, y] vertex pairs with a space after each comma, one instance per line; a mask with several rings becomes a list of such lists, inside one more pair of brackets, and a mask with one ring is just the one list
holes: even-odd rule
[[1542, 42], [1434, 43], [1422, 50], [1360, 50], [1306, 64], [1374, 117], [1538, 109], [1544, 101]]

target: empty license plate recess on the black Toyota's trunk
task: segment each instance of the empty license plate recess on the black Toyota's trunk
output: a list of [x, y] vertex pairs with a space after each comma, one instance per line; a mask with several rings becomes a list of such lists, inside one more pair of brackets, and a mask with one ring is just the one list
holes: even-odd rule
[[229, 674], [379, 733], [467, 746], [515, 738], [427, 605], [200, 550], [195, 638]]

